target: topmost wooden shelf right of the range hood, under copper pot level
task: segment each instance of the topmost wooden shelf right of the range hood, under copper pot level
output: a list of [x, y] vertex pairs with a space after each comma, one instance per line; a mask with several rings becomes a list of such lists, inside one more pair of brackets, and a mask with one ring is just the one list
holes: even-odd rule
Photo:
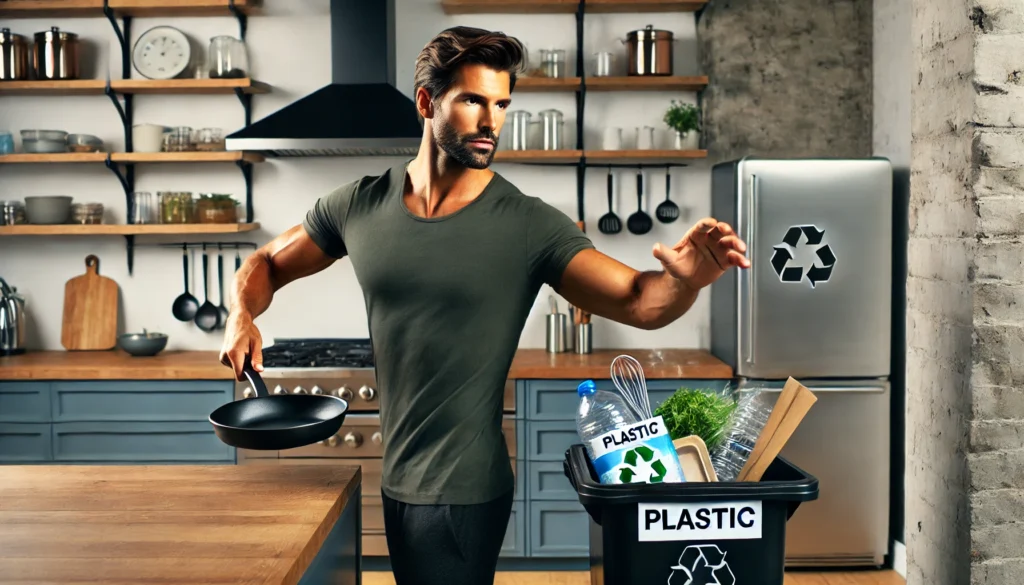
[[[695, 12], [708, 0], [587, 0], [589, 13]], [[445, 14], [573, 14], [579, 0], [441, 0]]]

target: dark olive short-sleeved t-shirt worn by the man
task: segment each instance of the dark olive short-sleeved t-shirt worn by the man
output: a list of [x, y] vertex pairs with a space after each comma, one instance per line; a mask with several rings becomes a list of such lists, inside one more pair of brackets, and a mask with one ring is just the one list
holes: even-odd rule
[[541, 285], [557, 284], [593, 245], [499, 174], [463, 209], [418, 217], [402, 199], [407, 164], [321, 198], [303, 226], [327, 254], [350, 258], [362, 289], [384, 493], [412, 504], [484, 502], [514, 486], [503, 395], [530, 307]]

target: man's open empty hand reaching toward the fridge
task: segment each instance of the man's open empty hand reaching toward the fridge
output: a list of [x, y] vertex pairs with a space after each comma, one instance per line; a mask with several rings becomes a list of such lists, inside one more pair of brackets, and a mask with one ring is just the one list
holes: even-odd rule
[[697, 221], [672, 248], [654, 245], [654, 257], [665, 271], [698, 291], [717, 281], [730, 267], [749, 268], [746, 244], [728, 223], [707, 217]]

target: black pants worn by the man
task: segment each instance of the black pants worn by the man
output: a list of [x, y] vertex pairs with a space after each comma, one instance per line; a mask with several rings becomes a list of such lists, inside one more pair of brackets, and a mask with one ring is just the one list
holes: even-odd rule
[[397, 585], [490, 585], [515, 491], [472, 505], [414, 505], [384, 496]]

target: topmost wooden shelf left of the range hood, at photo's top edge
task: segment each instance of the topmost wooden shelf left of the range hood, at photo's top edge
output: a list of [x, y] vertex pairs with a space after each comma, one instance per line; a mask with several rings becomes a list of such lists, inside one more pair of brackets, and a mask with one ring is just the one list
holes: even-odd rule
[[[110, 0], [119, 16], [231, 16], [228, 0]], [[261, 0], [234, 0], [242, 13], [260, 12]], [[6, 0], [0, 2], [3, 18], [101, 17], [103, 0]]]

